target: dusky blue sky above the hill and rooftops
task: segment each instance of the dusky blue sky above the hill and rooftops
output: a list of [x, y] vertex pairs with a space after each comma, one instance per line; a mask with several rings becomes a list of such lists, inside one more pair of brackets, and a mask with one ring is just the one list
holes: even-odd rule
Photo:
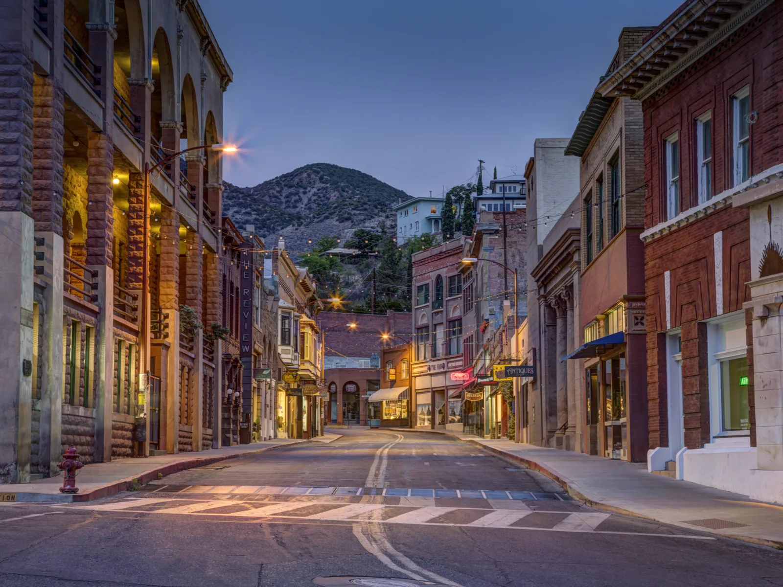
[[[681, 0], [200, 0], [234, 74], [223, 178], [364, 171], [412, 196], [523, 173], [572, 135], [622, 27]], [[489, 174], [489, 177], [488, 175]]]

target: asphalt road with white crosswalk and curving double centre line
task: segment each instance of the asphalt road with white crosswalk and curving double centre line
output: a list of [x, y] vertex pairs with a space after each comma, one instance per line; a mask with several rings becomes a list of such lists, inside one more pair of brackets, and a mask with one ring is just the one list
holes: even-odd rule
[[2, 505], [0, 585], [783, 585], [783, 553], [591, 509], [472, 445], [340, 432], [83, 506]]

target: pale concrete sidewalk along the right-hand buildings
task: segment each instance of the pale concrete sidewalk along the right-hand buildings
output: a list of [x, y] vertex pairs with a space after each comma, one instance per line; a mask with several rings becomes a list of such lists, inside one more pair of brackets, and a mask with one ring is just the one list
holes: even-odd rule
[[783, 549], [783, 506], [650, 474], [642, 463], [518, 445], [505, 439], [485, 440], [450, 431], [388, 430], [446, 434], [482, 446], [547, 475], [575, 499], [601, 510]]

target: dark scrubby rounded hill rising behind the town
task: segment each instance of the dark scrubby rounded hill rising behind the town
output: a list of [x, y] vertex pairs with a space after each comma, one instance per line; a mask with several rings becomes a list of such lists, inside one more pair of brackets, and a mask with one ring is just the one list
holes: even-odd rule
[[326, 163], [299, 167], [252, 188], [224, 185], [223, 214], [240, 229], [254, 225], [270, 248], [283, 236], [292, 252], [310, 250], [310, 239], [348, 239], [354, 229], [374, 230], [383, 223], [394, 231], [390, 207], [410, 198], [371, 175]]

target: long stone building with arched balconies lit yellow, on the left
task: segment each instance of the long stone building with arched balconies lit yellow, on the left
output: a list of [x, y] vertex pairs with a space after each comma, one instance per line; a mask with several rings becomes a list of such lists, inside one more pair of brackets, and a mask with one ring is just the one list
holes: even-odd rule
[[217, 366], [179, 304], [220, 314], [219, 153], [162, 164], [149, 193], [143, 170], [222, 141], [232, 73], [197, 2], [144, 10], [0, 2], [2, 481], [56, 473], [67, 445], [89, 463], [215, 442]]

